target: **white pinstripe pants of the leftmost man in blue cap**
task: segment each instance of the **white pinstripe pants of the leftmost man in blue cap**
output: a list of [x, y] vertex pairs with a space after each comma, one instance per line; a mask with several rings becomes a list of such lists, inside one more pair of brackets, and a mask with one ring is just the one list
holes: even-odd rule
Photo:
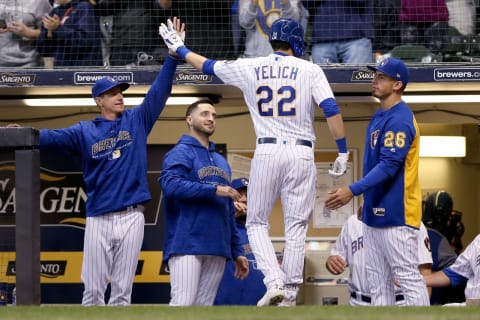
[[83, 246], [82, 305], [105, 305], [111, 283], [112, 306], [129, 305], [143, 242], [145, 217], [141, 206], [127, 211], [87, 217]]

